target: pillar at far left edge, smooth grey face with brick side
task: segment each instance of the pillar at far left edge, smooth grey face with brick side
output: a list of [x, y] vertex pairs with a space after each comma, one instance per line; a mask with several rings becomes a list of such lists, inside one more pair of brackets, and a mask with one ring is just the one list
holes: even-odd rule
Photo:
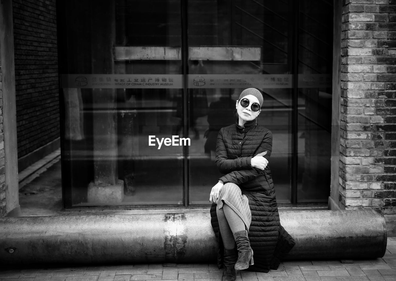
[[0, 216], [18, 216], [18, 161], [12, 1], [0, 1]]

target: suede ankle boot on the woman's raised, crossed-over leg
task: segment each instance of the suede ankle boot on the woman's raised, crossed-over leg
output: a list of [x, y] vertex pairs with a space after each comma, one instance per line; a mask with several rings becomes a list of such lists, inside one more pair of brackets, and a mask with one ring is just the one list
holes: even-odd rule
[[253, 250], [250, 248], [249, 238], [247, 231], [241, 230], [233, 233], [236, 249], [238, 249], [238, 260], [235, 264], [235, 270], [244, 270], [253, 265]]

